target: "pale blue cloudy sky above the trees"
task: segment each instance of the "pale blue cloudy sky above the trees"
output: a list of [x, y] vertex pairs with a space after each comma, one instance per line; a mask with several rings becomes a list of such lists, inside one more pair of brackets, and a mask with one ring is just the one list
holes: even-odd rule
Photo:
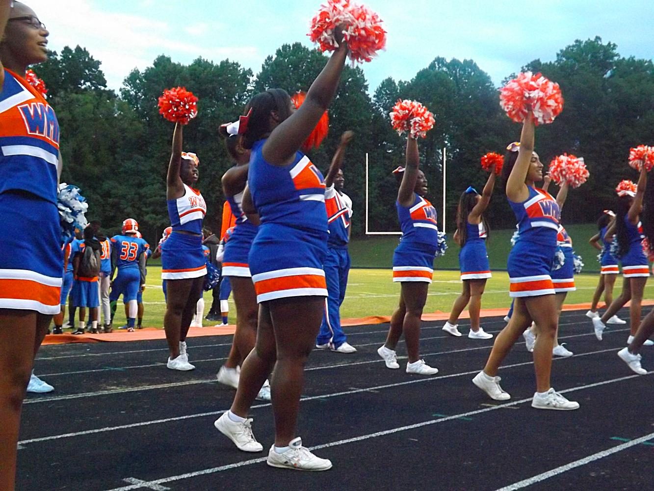
[[[25, 0], [50, 31], [48, 47], [80, 45], [102, 62], [109, 88], [156, 56], [188, 64], [226, 58], [258, 73], [284, 43], [311, 47], [320, 0]], [[653, 0], [364, 0], [388, 31], [362, 65], [372, 94], [387, 77], [410, 80], [436, 56], [472, 59], [499, 86], [576, 39], [602, 37], [622, 56], [654, 58]], [[38, 72], [37, 72], [38, 73]]]

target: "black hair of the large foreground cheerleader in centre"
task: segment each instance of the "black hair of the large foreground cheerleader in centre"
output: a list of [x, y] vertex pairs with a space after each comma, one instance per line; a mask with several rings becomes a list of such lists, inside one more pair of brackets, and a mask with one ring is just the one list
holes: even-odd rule
[[254, 142], [270, 133], [270, 113], [277, 111], [280, 122], [291, 115], [290, 96], [281, 88], [269, 88], [250, 99], [245, 106], [245, 115], [252, 109], [247, 130], [243, 134], [243, 148], [251, 149]]

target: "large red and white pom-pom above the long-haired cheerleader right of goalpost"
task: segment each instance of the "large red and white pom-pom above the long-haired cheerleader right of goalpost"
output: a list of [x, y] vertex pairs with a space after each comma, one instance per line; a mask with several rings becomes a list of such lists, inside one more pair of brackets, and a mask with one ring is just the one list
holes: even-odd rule
[[509, 118], [523, 122], [530, 105], [535, 124], [551, 123], [563, 110], [563, 96], [559, 84], [540, 73], [521, 73], [500, 89], [500, 106]]

